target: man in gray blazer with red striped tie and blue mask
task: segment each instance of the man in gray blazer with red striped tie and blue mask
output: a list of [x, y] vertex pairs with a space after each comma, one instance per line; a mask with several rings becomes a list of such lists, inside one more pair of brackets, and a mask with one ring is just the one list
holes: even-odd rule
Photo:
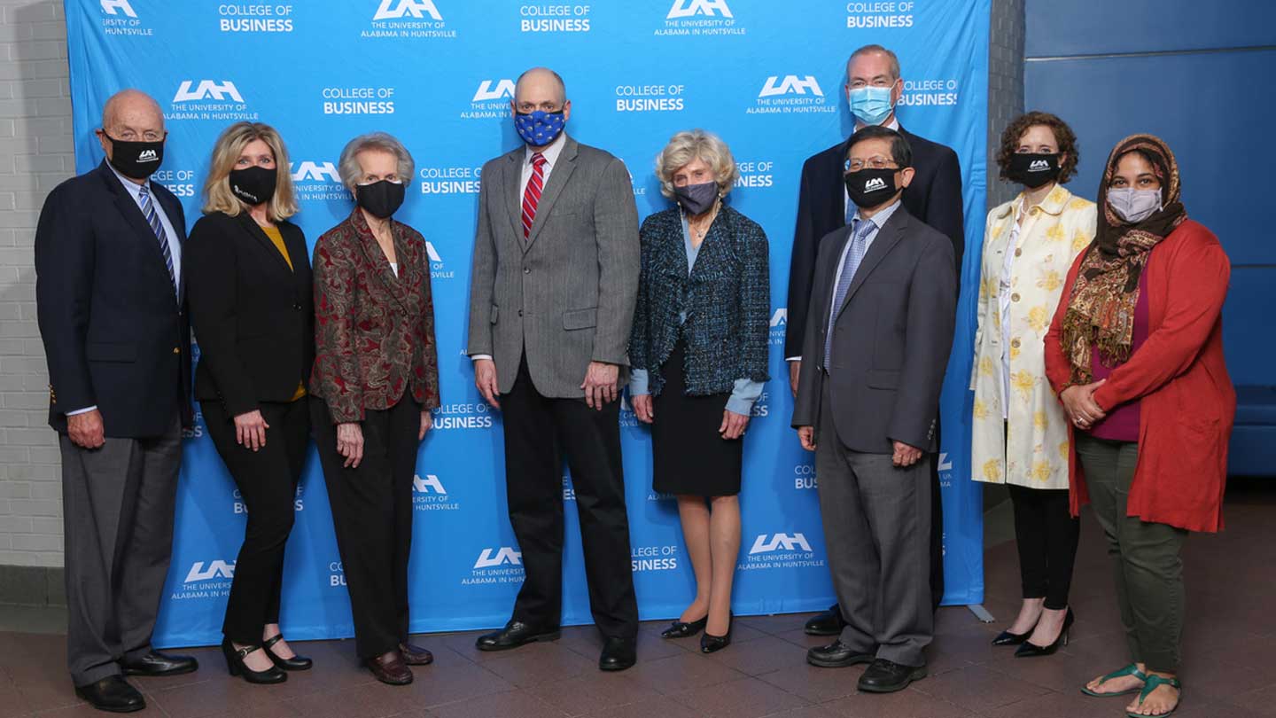
[[568, 137], [563, 78], [518, 78], [524, 146], [482, 167], [470, 285], [475, 383], [504, 411], [505, 493], [526, 579], [513, 616], [481, 636], [505, 650], [559, 636], [563, 459], [581, 516], [598, 667], [635, 662], [638, 603], [620, 465], [619, 385], [638, 295], [638, 211], [629, 172]]

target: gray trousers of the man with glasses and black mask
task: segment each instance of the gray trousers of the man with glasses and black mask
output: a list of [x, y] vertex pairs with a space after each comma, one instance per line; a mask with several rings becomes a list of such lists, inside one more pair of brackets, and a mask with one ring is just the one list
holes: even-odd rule
[[[827, 391], [827, 390], [826, 390]], [[820, 401], [815, 475], [828, 567], [846, 627], [841, 641], [901, 666], [924, 666], [930, 597], [933, 454], [909, 468], [842, 446]]]

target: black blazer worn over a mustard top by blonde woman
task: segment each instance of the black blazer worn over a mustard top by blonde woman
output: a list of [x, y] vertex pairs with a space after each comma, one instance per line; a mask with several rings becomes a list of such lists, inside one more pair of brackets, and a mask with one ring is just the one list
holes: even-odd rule
[[248, 215], [204, 215], [186, 244], [190, 317], [199, 342], [195, 399], [231, 416], [290, 401], [314, 364], [310, 253], [301, 227], [277, 225], [292, 268]]

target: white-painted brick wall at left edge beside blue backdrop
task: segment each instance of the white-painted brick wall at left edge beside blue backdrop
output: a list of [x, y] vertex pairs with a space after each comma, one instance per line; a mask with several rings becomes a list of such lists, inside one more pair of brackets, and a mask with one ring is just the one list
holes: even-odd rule
[[0, 566], [63, 565], [32, 239], [45, 195], [73, 172], [63, 4], [0, 0]]

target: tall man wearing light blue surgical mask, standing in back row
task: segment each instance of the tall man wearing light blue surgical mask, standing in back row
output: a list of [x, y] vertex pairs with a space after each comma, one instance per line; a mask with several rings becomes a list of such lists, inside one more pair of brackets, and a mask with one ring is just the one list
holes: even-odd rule
[[[903, 192], [909, 213], [939, 230], [952, 240], [954, 272], [961, 271], [965, 230], [962, 229], [961, 167], [952, 148], [917, 137], [900, 126], [894, 107], [903, 95], [900, 60], [880, 45], [865, 45], [851, 54], [846, 63], [846, 93], [855, 129], [880, 125], [897, 130], [912, 148], [912, 183]], [[789, 267], [789, 326], [785, 330], [785, 358], [794, 395], [801, 370], [803, 331], [806, 326], [815, 258], [823, 238], [843, 227], [855, 213], [842, 187], [847, 144], [835, 144], [806, 160], [801, 170], [798, 195], [798, 230], [794, 234], [792, 261]], [[956, 290], [954, 290], [956, 291]], [[939, 497], [938, 464], [931, 487], [930, 592], [931, 603], [939, 607], [944, 595], [943, 503]], [[806, 621], [812, 635], [837, 635], [842, 630], [837, 606]]]

